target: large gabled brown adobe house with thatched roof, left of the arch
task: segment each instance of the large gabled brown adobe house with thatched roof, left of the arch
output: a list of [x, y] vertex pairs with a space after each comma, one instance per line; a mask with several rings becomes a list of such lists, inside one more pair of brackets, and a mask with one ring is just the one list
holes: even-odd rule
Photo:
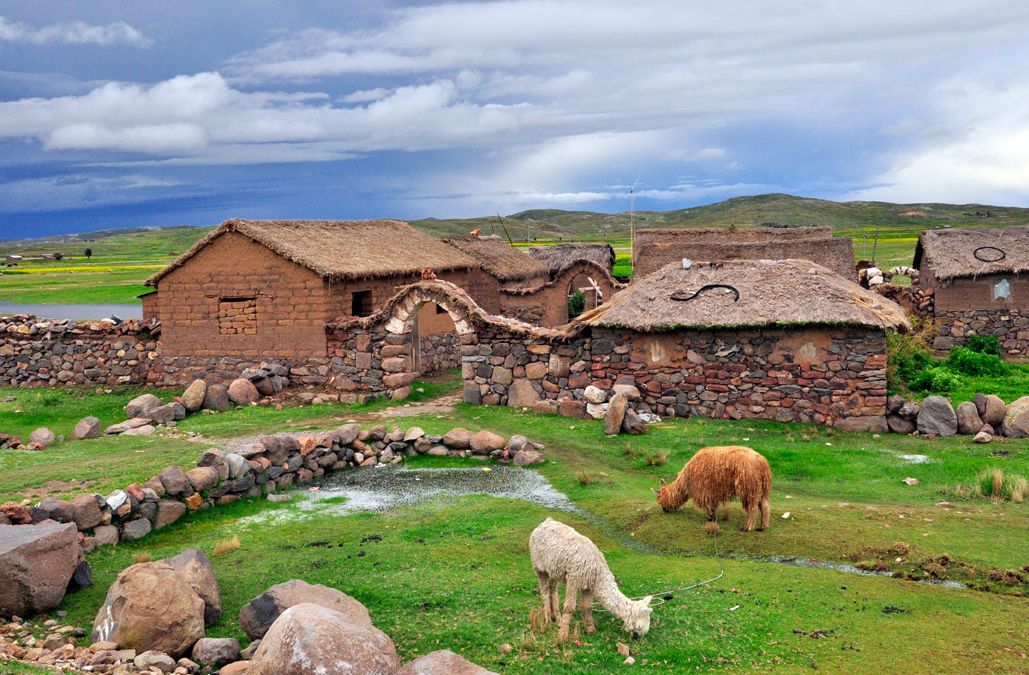
[[[162, 356], [324, 358], [325, 324], [372, 314], [431, 270], [464, 285], [474, 262], [396, 220], [223, 222], [146, 284]], [[422, 335], [453, 331], [424, 308]]]

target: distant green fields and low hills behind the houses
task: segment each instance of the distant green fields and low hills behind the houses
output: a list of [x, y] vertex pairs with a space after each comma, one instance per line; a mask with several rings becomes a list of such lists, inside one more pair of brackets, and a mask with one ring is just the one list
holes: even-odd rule
[[[989, 212], [991, 217], [975, 215]], [[920, 214], [920, 215], [913, 215]], [[875, 258], [884, 269], [911, 264], [921, 230], [941, 226], [1004, 226], [1029, 223], [1029, 209], [981, 205], [837, 203], [787, 194], [743, 197], [675, 211], [641, 211], [639, 227], [831, 225], [838, 237], [854, 240], [857, 259]], [[610, 242], [618, 253], [615, 274], [630, 276], [631, 246], [626, 213], [536, 209], [504, 218], [427, 218], [416, 227], [442, 236], [476, 227], [509, 236], [521, 245], [560, 241]], [[143, 281], [171, 262], [210, 227], [104, 230], [45, 240], [0, 242], [0, 257], [17, 253], [27, 261], [0, 269], [0, 301], [16, 304], [133, 304], [147, 290]], [[93, 255], [85, 257], [85, 249]], [[60, 261], [31, 259], [62, 253]]]

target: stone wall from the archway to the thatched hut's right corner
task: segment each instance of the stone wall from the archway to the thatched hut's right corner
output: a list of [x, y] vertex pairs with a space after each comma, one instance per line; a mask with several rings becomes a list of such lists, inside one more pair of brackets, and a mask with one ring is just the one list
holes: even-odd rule
[[[635, 385], [668, 417], [838, 423], [878, 429], [886, 414], [886, 340], [864, 328], [641, 334], [595, 329], [567, 341], [480, 332], [462, 349], [465, 400], [582, 400], [589, 385]], [[530, 391], [531, 388], [531, 391]]]

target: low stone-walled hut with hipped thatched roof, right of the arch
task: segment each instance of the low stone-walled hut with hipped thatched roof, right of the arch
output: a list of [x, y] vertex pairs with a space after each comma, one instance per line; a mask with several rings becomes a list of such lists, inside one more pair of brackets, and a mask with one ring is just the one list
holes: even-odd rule
[[[886, 428], [894, 303], [809, 260], [665, 265], [588, 312], [591, 383], [659, 415]], [[578, 383], [572, 383], [578, 384]]]

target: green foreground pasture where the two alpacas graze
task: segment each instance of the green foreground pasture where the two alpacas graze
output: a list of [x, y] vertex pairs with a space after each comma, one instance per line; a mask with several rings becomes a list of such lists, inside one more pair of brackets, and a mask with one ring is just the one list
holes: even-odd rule
[[[37, 407], [20, 401], [25, 412], [0, 410], [0, 424], [25, 416], [17, 419], [22, 429], [29, 428], [52, 410], [55, 428], [66, 432], [64, 427], [86, 412], [114, 415], [132, 393], [60, 392]], [[7, 394], [29, 395], [0, 391]], [[27, 494], [33, 481], [54, 475], [55, 467], [66, 478], [88, 482], [88, 489], [108, 489], [144, 479], [168, 462], [188, 466], [203, 449], [229, 436], [331, 428], [348, 419], [383, 423], [371, 419], [375, 410], [250, 407], [184, 421], [179, 430], [203, 434], [200, 443], [185, 437], [125, 445], [102, 438], [59, 443], [44, 453], [0, 451], [0, 495]], [[552, 516], [590, 535], [631, 596], [712, 577], [719, 562], [715, 542], [704, 534], [704, 517], [688, 507], [664, 513], [652, 489], [704, 445], [744, 443], [772, 465], [772, 527], [738, 532], [739, 506], [721, 509], [716, 545], [724, 576], [655, 607], [650, 633], [631, 641], [638, 665], [646, 660], [658, 672], [1025, 671], [1029, 584], [996, 579], [1006, 570], [1027, 575], [1029, 505], [972, 498], [955, 487], [971, 485], [987, 468], [1029, 475], [1029, 440], [975, 446], [967, 437], [875, 438], [819, 427], [700, 419], [652, 425], [644, 436], [608, 438], [597, 421], [464, 404], [396, 422], [430, 433], [455, 425], [526, 433], [546, 446], [548, 461], [538, 470], [578, 511], [485, 495], [349, 514], [295, 502], [238, 503], [92, 554], [96, 585], [66, 599], [69, 620], [91, 624], [108, 584], [137, 555], [156, 559], [188, 544], [212, 555], [221, 584], [224, 613], [211, 635], [242, 638], [239, 608], [269, 585], [295, 577], [339, 588], [365, 603], [405, 659], [450, 648], [503, 673], [620, 671], [626, 666], [615, 642], [626, 636], [607, 614], [598, 614], [596, 635], [580, 635], [564, 646], [554, 643], [552, 632], [530, 630], [529, 611], [538, 599], [529, 532]], [[906, 457], [914, 455], [927, 461]], [[410, 464], [468, 466], [430, 458]], [[906, 485], [908, 476], [919, 484]], [[304, 494], [296, 492], [296, 499]], [[241, 541], [238, 550], [213, 556], [217, 542], [234, 536]], [[906, 578], [948, 578], [980, 590], [774, 562], [792, 557], [879, 565]], [[502, 643], [513, 651], [501, 653]]]

